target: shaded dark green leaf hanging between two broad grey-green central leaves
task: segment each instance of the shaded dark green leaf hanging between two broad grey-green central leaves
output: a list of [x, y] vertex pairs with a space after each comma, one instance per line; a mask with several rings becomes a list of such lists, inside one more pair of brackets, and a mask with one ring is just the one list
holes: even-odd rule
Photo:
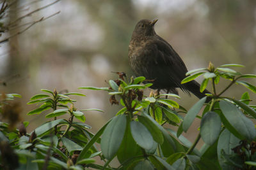
[[140, 146], [138, 146], [137, 143], [132, 138], [130, 122], [130, 118], [127, 117], [124, 139], [117, 152], [117, 158], [121, 164], [131, 159], [132, 157], [142, 155]]

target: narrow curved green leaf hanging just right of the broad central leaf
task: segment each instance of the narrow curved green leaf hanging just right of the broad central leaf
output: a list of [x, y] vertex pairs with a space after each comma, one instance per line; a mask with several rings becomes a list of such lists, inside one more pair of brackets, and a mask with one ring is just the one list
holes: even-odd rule
[[159, 144], [163, 144], [164, 137], [160, 129], [153, 124], [148, 118], [138, 115], [138, 120], [141, 122], [141, 124], [145, 125], [147, 127], [148, 131], [152, 135], [154, 141], [156, 141]]

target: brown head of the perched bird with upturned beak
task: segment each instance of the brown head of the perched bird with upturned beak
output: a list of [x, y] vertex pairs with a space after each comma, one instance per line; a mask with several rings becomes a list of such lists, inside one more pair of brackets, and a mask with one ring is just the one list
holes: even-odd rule
[[157, 20], [140, 20], [135, 26], [132, 36], [154, 36], [154, 25]]

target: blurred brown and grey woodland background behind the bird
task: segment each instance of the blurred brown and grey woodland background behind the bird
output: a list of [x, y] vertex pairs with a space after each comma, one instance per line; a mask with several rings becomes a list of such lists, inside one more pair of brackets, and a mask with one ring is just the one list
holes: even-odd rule
[[[17, 1], [4, 22], [52, 2]], [[30, 122], [28, 132], [47, 121], [47, 113], [26, 115], [36, 108], [26, 103], [31, 96], [41, 93], [40, 89], [86, 94], [74, 97], [77, 109], [104, 110], [104, 113], [86, 112], [86, 124], [92, 125], [92, 132], [113, 117], [120, 106], [111, 106], [107, 92], [77, 88], [108, 87], [106, 82], [117, 78], [111, 71], [124, 71], [128, 77], [132, 76], [128, 45], [134, 26], [143, 18], [159, 19], [155, 25], [157, 34], [173, 46], [188, 70], [207, 67], [211, 61], [215, 66], [243, 64], [246, 67], [234, 69], [256, 73], [256, 1], [253, 0], [62, 0], [23, 18], [19, 24], [58, 11], [0, 47], [0, 81], [6, 83], [0, 85], [0, 92], [22, 96], [17, 101], [22, 105], [23, 120]], [[19, 29], [12, 29], [4, 36], [11, 36]], [[255, 85], [255, 81], [250, 82]], [[220, 92], [227, 83], [221, 79], [217, 90]], [[248, 90], [234, 85], [224, 95], [239, 99], [244, 91]], [[255, 100], [255, 94], [249, 93]], [[177, 101], [187, 109], [198, 101], [183, 92], [180, 96], [182, 99]], [[194, 127], [197, 129], [198, 124]], [[189, 131], [185, 136], [193, 141], [195, 133]]]

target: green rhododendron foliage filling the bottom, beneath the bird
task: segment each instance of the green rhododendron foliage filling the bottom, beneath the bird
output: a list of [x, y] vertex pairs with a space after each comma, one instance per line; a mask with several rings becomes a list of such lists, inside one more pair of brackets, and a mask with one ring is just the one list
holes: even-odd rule
[[[42, 169], [44, 166], [48, 169], [255, 169], [255, 105], [250, 105], [252, 99], [248, 92], [244, 92], [240, 100], [222, 94], [235, 83], [255, 92], [255, 86], [239, 79], [256, 76], [238, 73], [227, 68], [230, 66], [241, 65], [225, 64], [215, 68], [210, 63], [208, 68], [187, 73], [189, 77], [183, 83], [203, 75], [200, 90], [207, 85], [212, 86], [212, 93], [188, 111], [172, 100], [172, 97], [180, 99], [176, 94], [150, 92], [149, 96], [144, 96], [143, 89], [152, 85], [143, 85], [144, 77], [127, 81], [124, 74], [119, 74], [118, 80], [109, 80], [109, 87], [79, 88], [107, 91], [111, 104], [123, 106], [96, 134], [92, 134], [88, 130], [91, 127], [84, 124], [83, 112], [101, 110], [77, 110], [74, 107], [76, 101], [70, 98], [84, 94], [59, 94], [56, 90], [42, 89], [45, 94], [36, 94], [28, 102], [40, 104], [28, 115], [35, 116], [45, 111], [45, 117], [54, 120], [39, 125], [30, 134], [26, 132], [28, 122], [13, 131], [8, 130], [12, 122], [1, 122], [1, 166], [27, 169]], [[216, 86], [222, 78], [230, 80], [230, 84], [217, 93]], [[15, 97], [20, 96], [1, 96], [0, 112], [3, 116], [6, 111], [14, 110], [10, 102]], [[202, 115], [199, 114], [201, 112]], [[61, 115], [69, 115], [69, 118], [57, 118]], [[187, 132], [196, 118], [202, 119], [200, 131], [191, 143], [182, 132]], [[176, 126], [178, 130], [165, 128], [164, 124]], [[197, 150], [195, 146], [200, 138], [204, 145]], [[95, 143], [100, 145], [101, 151]], [[8, 152], [4, 148], [9, 148]], [[95, 163], [94, 157], [100, 157], [104, 165]], [[109, 166], [115, 157], [120, 166]], [[11, 165], [9, 160], [15, 163]]]

